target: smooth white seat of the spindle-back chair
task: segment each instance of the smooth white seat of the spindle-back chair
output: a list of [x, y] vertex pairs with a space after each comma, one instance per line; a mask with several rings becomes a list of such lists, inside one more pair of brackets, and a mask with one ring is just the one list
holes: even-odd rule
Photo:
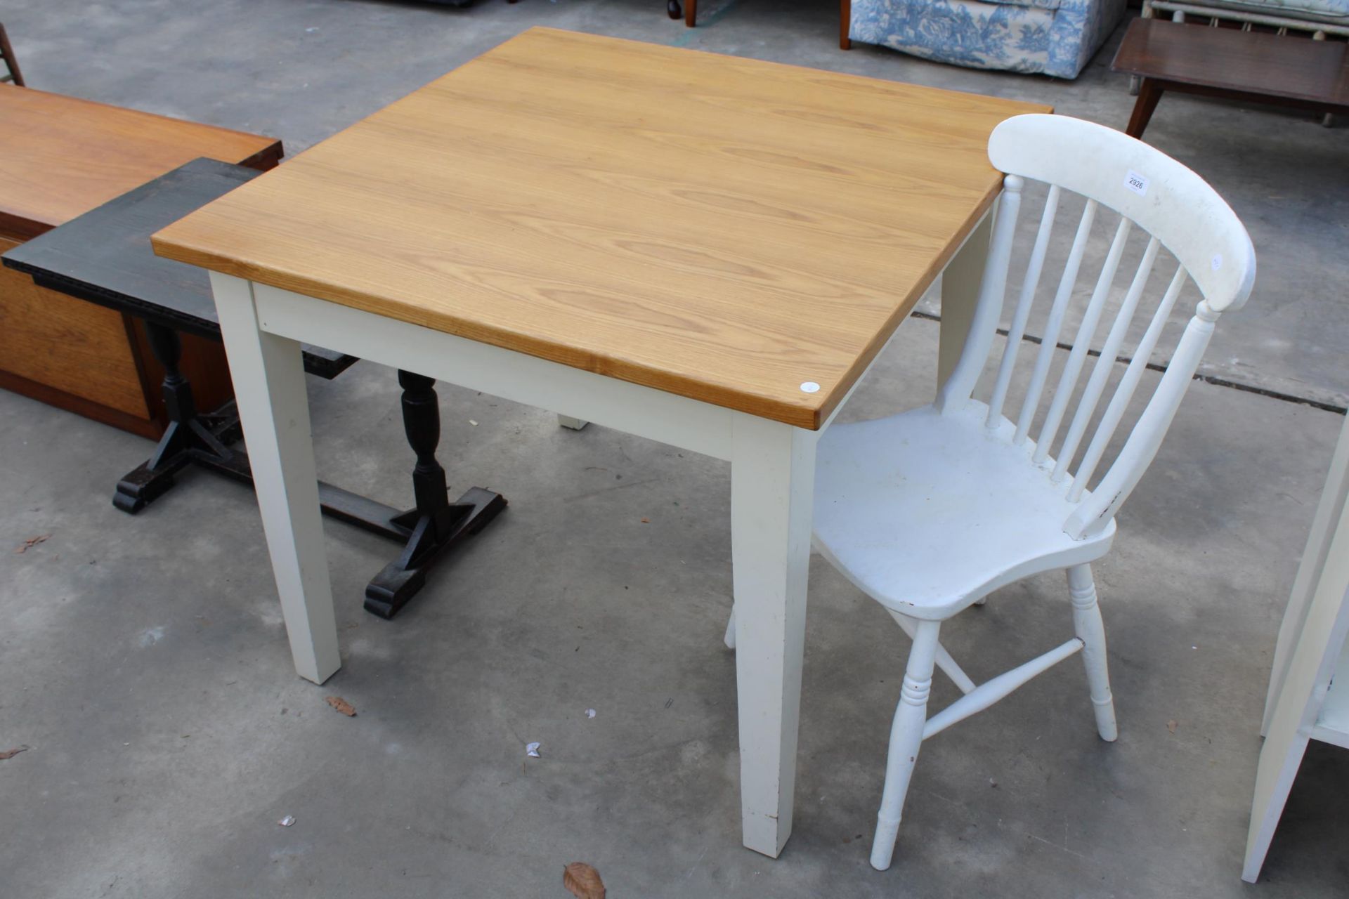
[[987, 406], [971, 400], [939, 415], [835, 425], [820, 438], [815, 473], [815, 546], [882, 605], [946, 619], [1028, 574], [1105, 555], [1114, 522], [1074, 540], [1071, 478], [1050, 478], [1054, 460], [1035, 445], [990, 431]]

